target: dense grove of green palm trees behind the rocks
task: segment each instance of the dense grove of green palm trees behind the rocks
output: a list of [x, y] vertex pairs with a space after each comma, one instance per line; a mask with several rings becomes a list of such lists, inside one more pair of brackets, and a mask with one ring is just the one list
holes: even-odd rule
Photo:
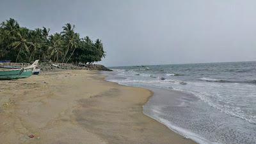
[[80, 38], [75, 25], [65, 24], [63, 31], [49, 35], [50, 29], [20, 27], [13, 18], [1, 23], [0, 59], [12, 62], [84, 62], [92, 64], [105, 57], [103, 45], [88, 36]]

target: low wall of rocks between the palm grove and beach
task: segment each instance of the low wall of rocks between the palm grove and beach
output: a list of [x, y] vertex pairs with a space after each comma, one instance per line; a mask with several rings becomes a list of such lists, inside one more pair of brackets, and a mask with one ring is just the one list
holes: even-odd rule
[[[2, 66], [15, 66], [15, 67], [26, 67], [29, 66], [29, 63], [15, 63], [15, 62], [7, 62], [1, 63], [0, 67]], [[63, 69], [85, 69], [85, 70], [96, 70], [96, 71], [112, 71], [111, 69], [106, 68], [100, 64], [65, 64], [65, 63], [54, 63], [54, 62], [39, 62], [38, 68], [41, 71], [59, 71]]]

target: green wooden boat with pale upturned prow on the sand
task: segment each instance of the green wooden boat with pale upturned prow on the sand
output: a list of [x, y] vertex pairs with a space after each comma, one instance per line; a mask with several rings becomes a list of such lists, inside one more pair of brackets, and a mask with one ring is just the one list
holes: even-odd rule
[[31, 66], [20, 69], [7, 69], [0, 71], [0, 80], [12, 80], [18, 78], [28, 78], [33, 74], [33, 70], [36, 68], [38, 60], [36, 60]]

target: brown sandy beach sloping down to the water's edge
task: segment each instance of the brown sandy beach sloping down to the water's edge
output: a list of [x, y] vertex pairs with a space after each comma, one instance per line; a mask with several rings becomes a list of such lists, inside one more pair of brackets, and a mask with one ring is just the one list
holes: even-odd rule
[[151, 95], [85, 70], [0, 81], [0, 143], [194, 143], [143, 115]]

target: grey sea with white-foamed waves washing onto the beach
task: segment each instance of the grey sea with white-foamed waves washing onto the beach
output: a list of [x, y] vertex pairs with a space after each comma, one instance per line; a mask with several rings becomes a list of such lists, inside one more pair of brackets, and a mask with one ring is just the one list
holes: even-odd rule
[[256, 143], [256, 62], [113, 67], [106, 80], [154, 92], [143, 111], [197, 143]]

